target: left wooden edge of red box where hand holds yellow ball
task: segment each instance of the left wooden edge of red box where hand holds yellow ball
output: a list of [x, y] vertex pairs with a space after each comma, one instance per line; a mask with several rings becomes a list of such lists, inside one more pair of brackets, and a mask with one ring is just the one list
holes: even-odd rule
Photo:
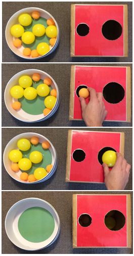
[[67, 140], [66, 182], [70, 181], [71, 145], [72, 145], [72, 130], [69, 130], [68, 131], [68, 140]]

